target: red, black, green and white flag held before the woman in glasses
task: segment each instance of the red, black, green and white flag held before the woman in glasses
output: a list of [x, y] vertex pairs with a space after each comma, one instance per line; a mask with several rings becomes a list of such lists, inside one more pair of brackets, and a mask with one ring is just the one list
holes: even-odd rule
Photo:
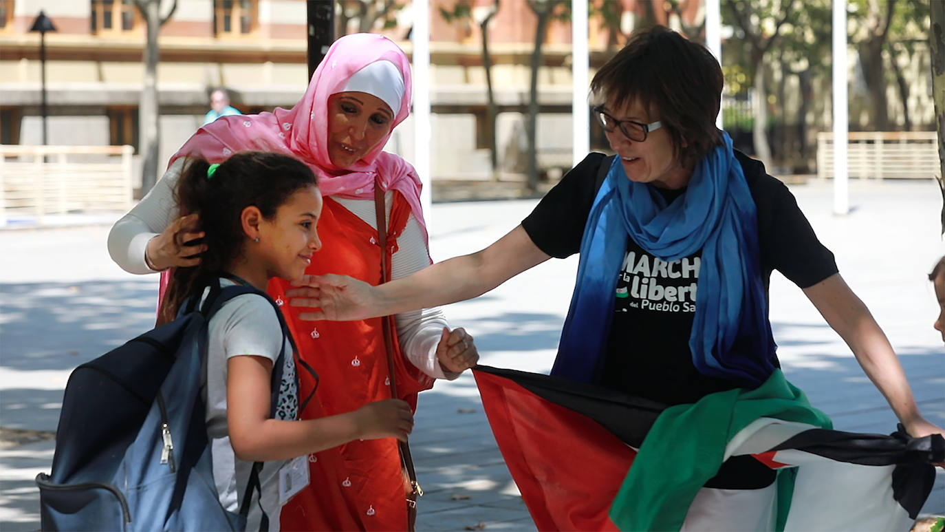
[[[668, 408], [547, 375], [473, 374], [539, 530], [908, 530], [945, 456], [939, 435], [831, 430], [780, 370]], [[738, 455], [777, 470], [774, 485], [702, 488]]]

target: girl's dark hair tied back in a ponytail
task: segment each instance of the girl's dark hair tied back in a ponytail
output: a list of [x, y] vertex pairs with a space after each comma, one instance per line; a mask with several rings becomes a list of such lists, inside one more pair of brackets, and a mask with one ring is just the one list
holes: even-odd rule
[[[233, 154], [207, 177], [210, 163], [200, 156], [188, 158], [177, 183], [175, 198], [180, 215], [198, 213], [207, 250], [200, 264], [176, 267], [160, 310], [163, 320], [177, 315], [180, 305], [196, 290], [225, 271], [243, 250], [246, 235], [240, 220], [253, 205], [266, 219], [297, 191], [317, 185], [312, 169], [281, 153], [243, 151]], [[182, 244], [182, 243], [181, 243]]]

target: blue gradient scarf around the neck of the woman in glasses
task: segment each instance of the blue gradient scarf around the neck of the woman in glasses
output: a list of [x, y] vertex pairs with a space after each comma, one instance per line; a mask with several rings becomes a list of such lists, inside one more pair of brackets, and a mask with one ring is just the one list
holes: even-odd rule
[[689, 337], [700, 373], [747, 388], [771, 375], [775, 344], [760, 274], [755, 202], [731, 139], [723, 136], [725, 146], [696, 165], [686, 192], [668, 205], [651, 185], [629, 180], [620, 158], [614, 158], [584, 228], [575, 293], [552, 375], [599, 381], [627, 237], [666, 262], [701, 249]]

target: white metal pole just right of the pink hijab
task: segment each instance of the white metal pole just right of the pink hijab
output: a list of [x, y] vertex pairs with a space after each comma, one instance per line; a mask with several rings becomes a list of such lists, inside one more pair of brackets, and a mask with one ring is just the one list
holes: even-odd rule
[[433, 176], [430, 164], [430, 6], [427, 0], [413, 2], [413, 118], [414, 118], [414, 167], [423, 181], [420, 200], [423, 217], [429, 230], [433, 213], [430, 209]]

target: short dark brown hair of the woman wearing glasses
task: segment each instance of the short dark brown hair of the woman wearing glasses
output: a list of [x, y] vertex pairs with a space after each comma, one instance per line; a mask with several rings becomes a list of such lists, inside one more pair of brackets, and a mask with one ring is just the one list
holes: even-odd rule
[[652, 26], [634, 32], [597, 71], [591, 91], [618, 108], [639, 99], [669, 132], [680, 161], [693, 163], [722, 145], [715, 127], [722, 84], [722, 68], [705, 46]]

